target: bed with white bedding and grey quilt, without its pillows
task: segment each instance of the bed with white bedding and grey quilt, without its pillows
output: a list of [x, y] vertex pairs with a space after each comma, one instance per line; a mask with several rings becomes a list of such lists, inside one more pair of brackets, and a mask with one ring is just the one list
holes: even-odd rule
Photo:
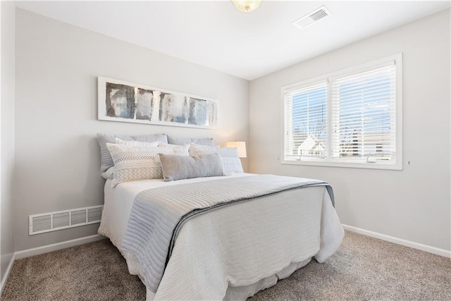
[[333, 193], [318, 180], [241, 172], [114, 181], [104, 186], [99, 234], [147, 300], [245, 300], [313, 257], [324, 262], [344, 236]]

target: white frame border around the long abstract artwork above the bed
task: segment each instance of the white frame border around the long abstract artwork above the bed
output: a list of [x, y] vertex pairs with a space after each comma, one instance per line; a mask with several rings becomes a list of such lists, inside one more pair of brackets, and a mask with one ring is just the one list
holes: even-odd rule
[[[139, 87], [146, 90], [157, 90], [163, 93], [168, 94], [176, 94], [183, 97], [193, 97], [197, 99], [206, 100], [207, 102], [214, 102], [216, 105], [216, 125], [194, 125], [189, 123], [178, 123], [178, 122], [169, 122], [169, 121], [147, 121], [147, 120], [139, 120], [139, 119], [130, 119], [130, 118], [121, 118], [121, 117], [111, 117], [106, 116], [106, 82], [111, 82], [113, 84], [119, 85], [128, 85], [131, 87]], [[166, 89], [161, 89], [157, 87], [151, 87], [147, 85], [135, 84], [133, 82], [127, 82], [125, 80], [116, 80], [113, 78], [105, 78], [103, 76], [99, 76], [97, 78], [97, 118], [99, 121], [119, 121], [119, 122], [127, 122], [127, 123], [143, 123], [143, 124], [154, 124], [154, 125], [170, 125], [170, 126], [183, 126], [188, 128], [206, 128], [206, 129], [217, 129], [218, 128], [218, 111], [219, 111], [219, 102], [216, 99], [211, 99], [208, 97], [201, 97], [198, 95], [187, 94], [183, 92], [176, 92]]]

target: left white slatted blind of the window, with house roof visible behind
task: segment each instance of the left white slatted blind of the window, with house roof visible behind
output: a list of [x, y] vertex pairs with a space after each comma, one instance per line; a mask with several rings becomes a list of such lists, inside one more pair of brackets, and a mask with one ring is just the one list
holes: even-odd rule
[[326, 157], [327, 83], [285, 94], [285, 157]]

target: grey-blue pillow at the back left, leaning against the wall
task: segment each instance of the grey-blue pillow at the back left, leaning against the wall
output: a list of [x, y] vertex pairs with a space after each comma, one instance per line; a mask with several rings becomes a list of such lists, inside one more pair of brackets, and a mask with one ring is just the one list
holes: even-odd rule
[[113, 166], [113, 159], [111, 159], [111, 154], [106, 147], [106, 143], [116, 143], [116, 137], [125, 141], [141, 141], [141, 142], [155, 142], [161, 141], [168, 143], [168, 136], [166, 134], [159, 135], [141, 135], [141, 136], [124, 136], [124, 135], [113, 135], [106, 133], [97, 133], [97, 140], [99, 140], [100, 146], [100, 171], [104, 172], [111, 166]]

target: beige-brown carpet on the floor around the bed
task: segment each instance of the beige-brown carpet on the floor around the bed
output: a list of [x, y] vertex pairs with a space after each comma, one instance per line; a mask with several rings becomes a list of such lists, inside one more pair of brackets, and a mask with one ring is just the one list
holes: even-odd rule
[[[17, 260], [1, 300], [144, 300], [109, 240]], [[323, 264], [312, 260], [249, 301], [451, 300], [451, 262], [390, 242], [346, 232]]]

